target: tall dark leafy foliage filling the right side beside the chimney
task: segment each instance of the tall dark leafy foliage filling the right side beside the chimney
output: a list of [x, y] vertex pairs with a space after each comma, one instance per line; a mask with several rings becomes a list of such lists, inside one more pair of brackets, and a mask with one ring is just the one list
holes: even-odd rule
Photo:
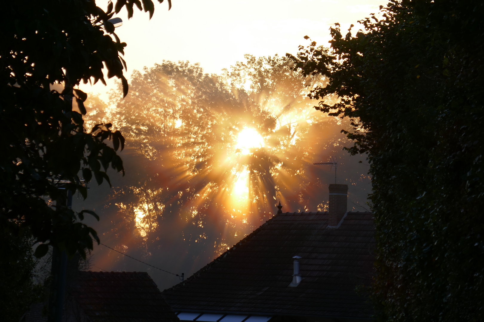
[[[374, 299], [385, 321], [484, 318], [482, 1], [392, 0], [332, 50], [292, 57], [330, 77], [318, 110], [353, 119], [352, 154], [371, 162]], [[352, 26], [353, 27], [353, 26]]]

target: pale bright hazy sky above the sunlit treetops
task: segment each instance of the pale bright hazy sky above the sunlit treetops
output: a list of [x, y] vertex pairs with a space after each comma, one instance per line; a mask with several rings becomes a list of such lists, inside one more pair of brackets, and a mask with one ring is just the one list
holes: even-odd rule
[[[115, 2], [113, 0], [113, 2]], [[117, 16], [123, 25], [116, 28], [128, 45], [124, 59], [129, 79], [133, 70], [151, 67], [165, 60], [199, 62], [208, 73], [218, 73], [243, 59], [244, 54], [269, 56], [295, 54], [298, 45], [308, 44], [308, 35], [318, 44], [327, 44], [329, 28], [339, 22], [343, 30], [357, 20], [378, 14], [386, 0], [156, 0], [151, 20], [148, 13], [135, 10], [127, 19], [123, 9]], [[106, 8], [107, 0], [96, 1]], [[355, 27], [354, 30], [357, 30]], [[100, 83], [90, 92], [106, 93]], [[106, 99], [105, 95], [102, 95]]]

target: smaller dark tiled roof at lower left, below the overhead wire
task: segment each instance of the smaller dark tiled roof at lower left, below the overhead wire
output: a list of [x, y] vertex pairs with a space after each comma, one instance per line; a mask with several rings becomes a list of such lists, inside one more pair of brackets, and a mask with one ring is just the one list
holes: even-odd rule
[[91, 322], [179, 321], [146, 272], [79, 272], [74, 296]]

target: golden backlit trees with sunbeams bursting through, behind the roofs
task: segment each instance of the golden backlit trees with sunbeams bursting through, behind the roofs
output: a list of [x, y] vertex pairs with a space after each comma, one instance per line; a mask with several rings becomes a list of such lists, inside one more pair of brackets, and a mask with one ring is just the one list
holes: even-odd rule
[[[180, 252], [194, 255], [187, 250], [200, 245], [194, 256], [205, 265], [272, 217], [279, 200], [286, 211], [325, 208], [322, 187], [334, 173], [313, 162], [344, 154], [350, 141], [340, 131], [348, 121], [312, 109], [308, 86], [324, 78], [303, 77], [286, 57], [245, 58], [220, 75], [165, 61], [135, 71], [129, 94], [112, 107], [88, 103], [88, 122], [116, 120], [113, 128], [126, 138], [125, 166], [139, 174], [106, 201], [116, 223], [106, 227], [111, 245], [161, 256], [182, 240]], [[369, 180], [356, 168], [341, 169], [341, 181]]]

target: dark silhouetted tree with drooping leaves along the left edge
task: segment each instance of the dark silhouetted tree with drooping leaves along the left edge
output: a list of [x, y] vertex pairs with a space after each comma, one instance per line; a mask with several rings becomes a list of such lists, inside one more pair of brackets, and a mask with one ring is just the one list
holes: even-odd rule
[[[118, 0], [115, 12], [125, 6], [131, 17], [135, 4], [151, 17], [151, 0]], [[76, 88], [81, 81], [105, 83], [106, 65], [107, 77], [121, 79], [127, 94], [125, 63], [119, 55], [126, 44], [108, 22], [113, 4], [109, 2], [107, 12], [94, 0], [19, 0], [1, 7], [1, 232], [41, 243], [37, 257], [48, 246], [85, 256], [92, 239], [99, 238], [81, 221], [85, 214], [96, 214], [68, 209], [65, 191], [86, 198], [81, 180], [94, 177], [100, 184], [109, 182], [109, 166], [123, 171], [116, 154], [124, 144], [121, 133], [111, 131], [110, 124], [86, 129], [87, 95]], [[52, 89], [55, 84], [63, 89]], [[105, 140], [112, 140], [113, 147]]]

